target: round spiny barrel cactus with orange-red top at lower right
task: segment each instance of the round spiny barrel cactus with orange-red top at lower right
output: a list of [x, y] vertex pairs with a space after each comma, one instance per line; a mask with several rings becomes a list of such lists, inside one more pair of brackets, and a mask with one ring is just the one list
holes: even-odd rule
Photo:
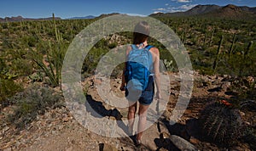
[[199, 119], [202, 134], [220, 146], [236, 144], [245, 131], [239, 110], [224, 100], [208, 104]]

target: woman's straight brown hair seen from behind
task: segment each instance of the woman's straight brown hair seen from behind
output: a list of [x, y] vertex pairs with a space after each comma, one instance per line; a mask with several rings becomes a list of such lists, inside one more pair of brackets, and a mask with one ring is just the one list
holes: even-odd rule
[[149, 25], [146, 21], [140, 21], [133, 31], [133, 44], [141, 44], [148, 39]]

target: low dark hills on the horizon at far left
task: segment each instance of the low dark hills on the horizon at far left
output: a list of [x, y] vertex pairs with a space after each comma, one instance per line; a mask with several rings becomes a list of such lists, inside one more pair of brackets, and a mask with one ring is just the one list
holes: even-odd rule
[[[40, 18], [40, 19], [30, 19], [30, 18], [23, 18], [22, 16], [17, 16], [17, 17], [5, 17], [0, 18], [0, 23], [9, 21], [9, 22], [15, 22], [15, 21], [31, 21], [31, 20], [52, 20], [52, 17], [49, 18]], [[55, 20], [61, 20], [60, 17], [55, 17]]]

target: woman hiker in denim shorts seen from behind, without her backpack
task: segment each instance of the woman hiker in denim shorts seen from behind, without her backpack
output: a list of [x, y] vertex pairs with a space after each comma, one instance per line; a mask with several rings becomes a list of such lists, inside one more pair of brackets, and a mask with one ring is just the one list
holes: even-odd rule
[[[148, 45], [148, 35], [149, 35], [149, 25], [146, 21], [139, 22], [133, 32], [133, 45], [129, 46], [126, 49], [126, 62], [125, 69], [122, 76], [122, 84], [120, 86], [121, 91], [125, 91], [125, 96], [128, 96], [129, 102], [129, 111], [128, 111], [128, 132], [129, 135], [133, 134], [133, 125], [135, 120], [135, 115], [137, 113], [137, 102], [138, 102], [138, 126], [137, 126], [137, 136], [136, 136], [136, 145], [141, 144], [143, 131], [145, 131], [147, 124], [147, 112], [150, 103], [153, 102], [154, 99], [154, 82], [156, 85], [156, 93], [155, 98], [160, 99], [160, 52], [158, 48], [154, 48]], [[129, 53], [134, 48], [147, 48], [151, 54], [152, 58], [152, 68], [149, 69], [150, 76], [148, 77], [148, 84], [146, 88], [143, 89], [141, 95], [137, 100], [133, 100], [132, 96], [129, 98], [129, 88], [127, 89], [127, 80], [125, 81], [125, 70], [127, 66], [127, 58], [129, 57]], [[137, 50], [136, 50], [137, 51]]]

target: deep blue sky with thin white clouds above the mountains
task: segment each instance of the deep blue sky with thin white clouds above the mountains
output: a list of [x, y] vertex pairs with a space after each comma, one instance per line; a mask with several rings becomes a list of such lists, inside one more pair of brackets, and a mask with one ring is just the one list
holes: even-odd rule
[[227, 4], [256, 7], [256, 0], [3, 0], [0, 17], [21, 15], [25, 18], [55, 16], [67, 19], [100, 14], [153, 14], [185, 11], [197, 4]]

